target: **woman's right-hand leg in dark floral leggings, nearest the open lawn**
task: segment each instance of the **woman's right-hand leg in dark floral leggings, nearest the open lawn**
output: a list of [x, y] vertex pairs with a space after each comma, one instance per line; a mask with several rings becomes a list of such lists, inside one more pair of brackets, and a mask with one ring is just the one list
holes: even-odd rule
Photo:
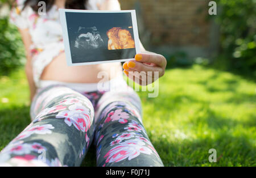
[[163, 166], [142, 125], [134, 91], [106, 92], [95, 118], [97, 166]]

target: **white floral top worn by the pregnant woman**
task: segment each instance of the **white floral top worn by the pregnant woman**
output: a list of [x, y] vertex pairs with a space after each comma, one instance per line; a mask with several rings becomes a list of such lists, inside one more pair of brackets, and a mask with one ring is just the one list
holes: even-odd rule
[[[86, 9], [98, 10], [97, 3], [102, 1], [104, 0], [89, 0]], [[64, 52], [63, 34], [56, 5], [53, 5], [46, 15], [39, 15], [30, 6], [22, 10], [24, 2], [25, 0], [16, 0], [17, 6], [11, 10], [10, 22], [20, 29], [29, 29], [32, 40], [30, 52], [33, 77], [38, 87], [44, 67], [59, 53]]]

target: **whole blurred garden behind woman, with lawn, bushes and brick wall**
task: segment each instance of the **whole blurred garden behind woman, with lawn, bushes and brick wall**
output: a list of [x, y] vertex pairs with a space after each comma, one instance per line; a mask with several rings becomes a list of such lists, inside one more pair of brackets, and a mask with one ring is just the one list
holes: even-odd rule
[[[164, 166], [256, 166], [256, 1], [121, 0], [137, 10], [147, 50], [167, 58], [159, 96], [143, 103], [143, 122]], [[24, 48], [0, 1], [0, 150], [28, 124]], [[217, 162], [208, 160], [216, 149]], [[82, 166], [96, 165], [90, 148]]]

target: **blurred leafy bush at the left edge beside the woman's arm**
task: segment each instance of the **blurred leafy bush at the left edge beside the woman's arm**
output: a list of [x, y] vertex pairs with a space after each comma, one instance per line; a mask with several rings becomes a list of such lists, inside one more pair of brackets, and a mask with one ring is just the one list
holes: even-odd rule
[[[24, 46], [18, 29], [9, 23], [10, 1], [0, 2], [0, 74], [24, 64]], [[5, 12], [3, 12], [5, 11]]]

